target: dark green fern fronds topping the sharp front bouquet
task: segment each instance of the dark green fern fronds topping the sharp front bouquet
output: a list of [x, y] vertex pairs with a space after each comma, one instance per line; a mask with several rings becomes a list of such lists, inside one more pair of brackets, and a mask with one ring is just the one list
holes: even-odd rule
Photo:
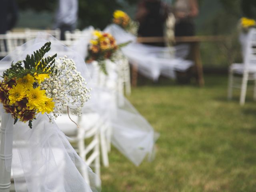
[[[14, 77], [22, 78], [26, 76], [26, 74], [31, 74], [33, 76], [35, 72], [37, 74], [43, 74], [46, 71], [48, 73], [53, 72], [57, 54], [43, 58], [50, 50], [50, 46], [51, 42], [46, 42], [46, 44], [35, 51], [34, 54], [31, 56], [27, 55], [25, 60], [18, 61], [15, 64], [12, 63], [12, 66], [4, 71], [3, 77], [7, 78], [6, 81], [8, 81]], [[24, 67], [22, 64], [24, 64]]]

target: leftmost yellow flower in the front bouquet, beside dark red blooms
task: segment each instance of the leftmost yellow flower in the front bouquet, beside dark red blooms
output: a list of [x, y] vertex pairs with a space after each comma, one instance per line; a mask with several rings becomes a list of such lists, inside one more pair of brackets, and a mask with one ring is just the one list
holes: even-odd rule
[[10, 99], [10, 105], [14, 104], [16, 101], [21, 101], [26, 96], [26, 89], [21, 85], [13, 85], [12, 89], [8, 91]]

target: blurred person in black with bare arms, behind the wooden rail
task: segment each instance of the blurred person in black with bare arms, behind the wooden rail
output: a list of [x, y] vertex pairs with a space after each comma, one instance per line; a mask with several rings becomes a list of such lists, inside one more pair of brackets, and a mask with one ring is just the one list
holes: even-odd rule
[[[164, 24], [169, 14], [169, 7], [161, 0], [140, 0], [136, 12], [136, 20], [140, 23], [138, 36], [162, 37]], [[164, 46], [164, 43], [147, 43]]]

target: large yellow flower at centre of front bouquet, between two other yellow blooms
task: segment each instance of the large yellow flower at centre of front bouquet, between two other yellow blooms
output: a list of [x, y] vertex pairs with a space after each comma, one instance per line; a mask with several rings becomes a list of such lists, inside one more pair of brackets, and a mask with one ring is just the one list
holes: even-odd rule
[[26, 91], [26, 97], [28, 99], [27, 106], [30, 110], [41, 108], [48, 100], [45, 96], [45, 90], [40, 90], [40, 87]]

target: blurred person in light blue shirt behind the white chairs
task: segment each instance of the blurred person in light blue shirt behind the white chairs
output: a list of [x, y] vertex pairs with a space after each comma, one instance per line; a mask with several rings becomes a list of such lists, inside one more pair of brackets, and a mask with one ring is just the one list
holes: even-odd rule
[[65, 31], [76, 29], [78, 18], [78, 0], [59, 0], [55, 15], [54, 29], [61, 31], [60, 39], [65, 40]]

